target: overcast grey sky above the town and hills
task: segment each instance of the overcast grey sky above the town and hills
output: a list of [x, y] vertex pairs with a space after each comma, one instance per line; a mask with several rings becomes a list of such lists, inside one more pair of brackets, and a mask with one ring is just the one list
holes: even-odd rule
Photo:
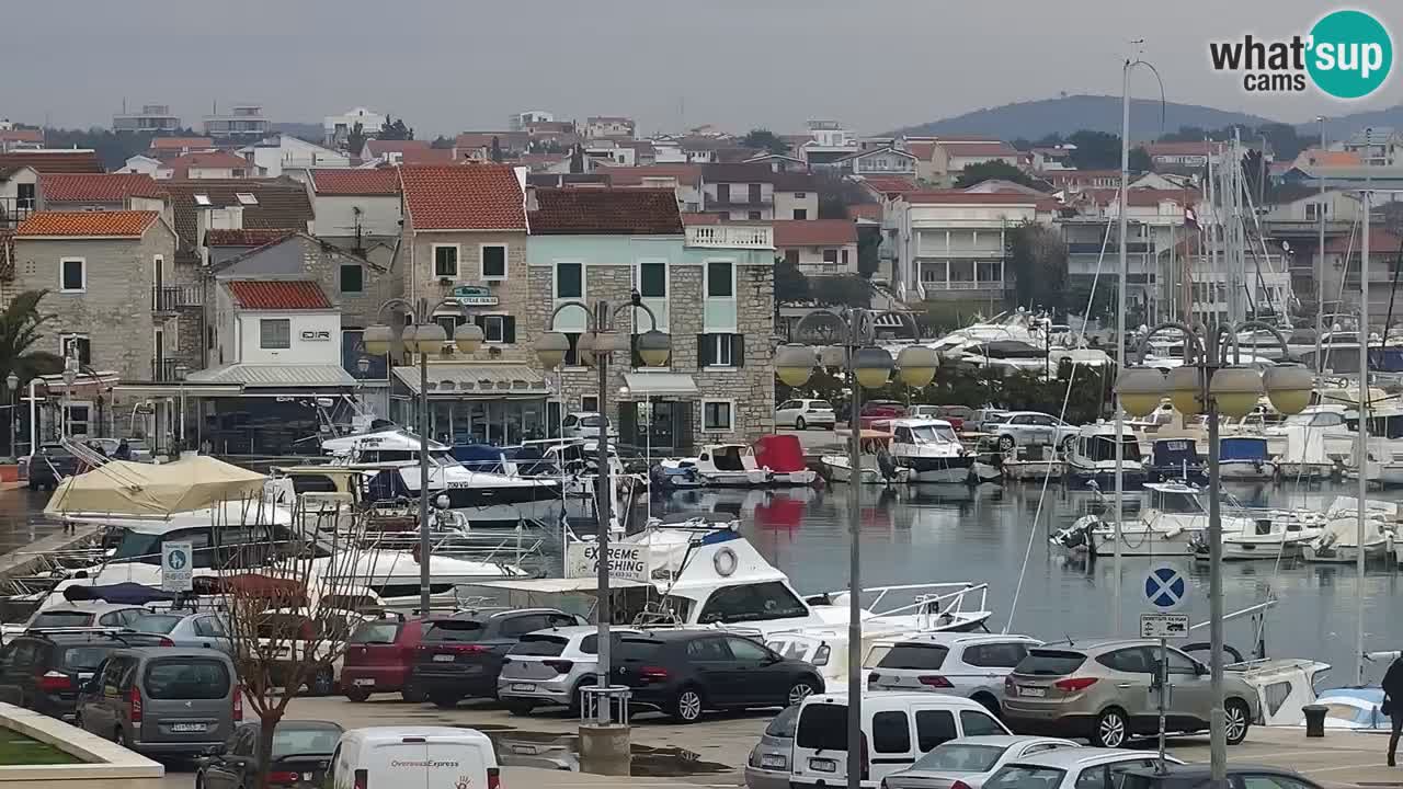
[[[1403, 46], [1403, 7], [1382, 14]], [[1331, 6], [1333, 7], [1333, 6]], [[1390, 8], [1390, 10], [1385, 10]], [[1173, 101], [1303, 122], [1368, 105], [1264, 98], [1208, 67], [1207, 41], [1306, 32], [1312, 0], [6, 0], [0, 117], [108, 125], [170, 104], [196, 126], [213, 101], [272, 121], [355, 105], [418, 136], [505, 126], [512, 111], [631, 115], [641, 132], [703, 122], [864, 133], [1066, 93], [1120, 93], [1145, 38]], [[1136, 77], [1136, 95], [1155, 91]]]

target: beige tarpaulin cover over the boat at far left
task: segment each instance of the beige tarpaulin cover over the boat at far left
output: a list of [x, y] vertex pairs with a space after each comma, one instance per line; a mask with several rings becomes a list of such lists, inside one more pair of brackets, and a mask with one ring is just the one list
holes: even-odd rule
[[173, 463], [112, 460], [59, 483], [45, 515], [79, 512], [171, 515], [223, 501], [258, 498], [267, 477], [208, 455]]

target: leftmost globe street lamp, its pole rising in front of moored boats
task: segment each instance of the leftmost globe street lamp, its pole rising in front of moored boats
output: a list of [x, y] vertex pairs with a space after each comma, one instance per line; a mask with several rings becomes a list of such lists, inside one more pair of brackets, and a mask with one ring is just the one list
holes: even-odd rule
[[[432, 320], [432, 314], [445, 306], [452, 314], [462, 314], [462, 305], [456, 299], [443, 299], [432, 310], [428, 299], [419, 299], [415, 310], [405, 299], [396, 298], [380, 305], [376, 312], [379, 319], [386, 309], [400, 307], [418, 319], [418, 323], [400, 327], [398, 336], [405, 351], [419, 355], [419, 611], [424, 616], [429, 615], [429, 556], [434, 553], [429, 541], [429, 354], [442, 352], [450, 341], [448, 331]], [[396, 331], [384, 323], [368, 326], [361, 343], [368, 354], [383, 357], [390, 352]], [[453, 330], [452, 343], [459, 351], [471, 355], [483, 345], [483, 330], [476, 323], [464, 323]], [[362, 369], [369, 369], [369, 359], [363, 361], [366, 366]]]

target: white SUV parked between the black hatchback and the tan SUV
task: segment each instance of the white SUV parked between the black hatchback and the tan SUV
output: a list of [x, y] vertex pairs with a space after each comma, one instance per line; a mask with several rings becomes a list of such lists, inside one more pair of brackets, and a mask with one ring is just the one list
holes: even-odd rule
[[863, 660], [870, 691], [953, 694], [999, 715], [1003, 678], [1042, 642], [996, 633], [920, 633], [881, 639]]

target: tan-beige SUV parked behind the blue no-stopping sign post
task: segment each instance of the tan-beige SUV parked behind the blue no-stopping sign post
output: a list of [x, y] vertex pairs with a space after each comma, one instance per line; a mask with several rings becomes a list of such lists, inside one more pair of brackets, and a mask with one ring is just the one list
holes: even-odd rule
[[[1107, 748], [1153, 734], [1159, 731], [1159, 710], [1150, 681], [1159, 654], [1153, 640], [1030, 650], [1003, 682], [1003, 719], [1020, 734], [1086, 737]], [[1207, 731], [1214, 706], [1208, 668], [1169, 647], [1169, 681], [1170, 731]], [[1229, 744], [1242, 743], [1257, 712], [1257, 692], [1228, 672], [1223, 715]]]

